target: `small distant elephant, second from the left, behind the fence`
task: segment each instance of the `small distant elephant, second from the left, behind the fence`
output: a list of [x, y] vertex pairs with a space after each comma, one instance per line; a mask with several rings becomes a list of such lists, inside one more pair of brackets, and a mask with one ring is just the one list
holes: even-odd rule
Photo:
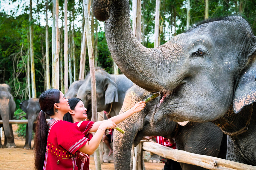
[[20, 103], [20, 108], [27, 114], [28, 124], [26, 126], [26, 141], [24, 149], [31, 149], [32, 131], [35, 131], [38, 114], [41, 111], [39, 99], [30, 98]]

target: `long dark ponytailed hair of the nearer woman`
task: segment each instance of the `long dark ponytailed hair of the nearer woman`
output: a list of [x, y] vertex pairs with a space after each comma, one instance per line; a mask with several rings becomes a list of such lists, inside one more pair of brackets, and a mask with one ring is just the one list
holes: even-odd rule
[[47, 135], [48, 135], [48, 125], [45, 120], [45, 115], [54, 115], [54, 104], [59, 103], [60, 91], [57, 89], [45, 90], [39, 96], [39, 104], [41, 111], [38, 116], [38, 121], [36, 125], [35, 133], [35, 169], [42, 170], [44, 166], [46, 145], [47, 145]]

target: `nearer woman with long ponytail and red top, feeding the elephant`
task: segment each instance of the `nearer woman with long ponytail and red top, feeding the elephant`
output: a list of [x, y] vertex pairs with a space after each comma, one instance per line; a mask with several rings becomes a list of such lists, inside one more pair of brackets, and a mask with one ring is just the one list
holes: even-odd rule
[[[76, 166], [77, 151], [92, 154], [99, 146], [105, 129], [116, 127], [114, 121], [110, 119], [100, 124], [92, 123], [90, 132], [96, 131], [96, 133], [89, 140], [77, 125], [63, 121], [63, 116], [71, 109], [68, 99], [62, 92], [57, 89], [46, 90], [40, 95], [39, 103], [41, 111], [35, 134], [36, 170], [78, 170]], [[145, 107], [142, 102], [136, 105], [133, 110], [129, 110], [129, 116]], [[46, 123], [45, 114], [50, 116], [48, 123]], [[126, 116], [123, 115], [123, 117]], [[122, 121], [122, 119], [117, 119], [118, 123], [119, 120]]]

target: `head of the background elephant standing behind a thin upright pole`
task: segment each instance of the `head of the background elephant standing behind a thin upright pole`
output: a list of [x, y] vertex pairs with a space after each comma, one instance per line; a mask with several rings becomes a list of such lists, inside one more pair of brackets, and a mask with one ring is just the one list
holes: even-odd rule
[[[118, 102], [117, 85], [110, 79], [110, 74], [102, 69], [95, 70], [95, 77], [97, 112], [101, 112], [107, 110], [112, 102]], [[88, 119], [91, 119], [91, 91], [91, 75], [89, 73], [77, 92], [77, 98], [80, 98], [84, 107], [87, 108]]]

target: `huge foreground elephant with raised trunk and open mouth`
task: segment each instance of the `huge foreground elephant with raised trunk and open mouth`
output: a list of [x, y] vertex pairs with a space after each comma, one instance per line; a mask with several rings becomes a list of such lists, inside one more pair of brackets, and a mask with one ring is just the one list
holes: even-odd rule
[[[104, 8], [104, 9], [103, 9]], [[214, 121], [228, 134], [227, 159], [256, 165], [256, 38], [239, 16], [205, 21], [157, 48], [132, 34], [128, 0], [94, 0], [111, 55], [135, 84], [161, 92], [155, 125]]]

